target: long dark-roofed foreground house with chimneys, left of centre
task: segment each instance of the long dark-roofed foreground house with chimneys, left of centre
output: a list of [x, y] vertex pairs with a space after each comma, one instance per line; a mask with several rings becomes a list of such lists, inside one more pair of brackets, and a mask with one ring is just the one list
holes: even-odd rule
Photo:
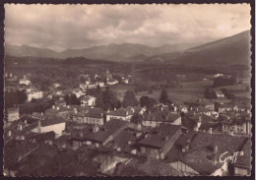
[[73, 132], [71, 135], [73, 149], [76, 150], [83, 145], [103, 147], [127, 127], [128, 122], [112, 119], [101, 127], [97, 125], [88, 126], [80, 131]]

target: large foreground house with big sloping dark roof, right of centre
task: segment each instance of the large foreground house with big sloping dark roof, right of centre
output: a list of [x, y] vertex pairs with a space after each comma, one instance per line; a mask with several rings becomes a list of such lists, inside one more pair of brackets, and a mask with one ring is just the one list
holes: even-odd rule
[[163, 159], [181, 134], [181, 126], [160, 124], [138, 142], [140, 153]]

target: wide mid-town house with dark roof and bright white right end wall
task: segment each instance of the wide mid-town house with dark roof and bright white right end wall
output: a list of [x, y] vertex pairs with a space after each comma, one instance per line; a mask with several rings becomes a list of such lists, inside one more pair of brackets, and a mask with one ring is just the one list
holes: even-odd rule
[[159, 124], [181, 125], [181, 116], [167, 110], [155, 110], [145, 113], [142, 125], [155, 128]]

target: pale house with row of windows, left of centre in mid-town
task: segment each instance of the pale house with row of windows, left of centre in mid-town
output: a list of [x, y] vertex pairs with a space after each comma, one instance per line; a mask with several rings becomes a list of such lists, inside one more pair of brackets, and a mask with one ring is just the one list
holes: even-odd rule
[[84, 109], [73, 115], [73, 121], [80, 124], [103, 125], [103, 110], [100, 108]]

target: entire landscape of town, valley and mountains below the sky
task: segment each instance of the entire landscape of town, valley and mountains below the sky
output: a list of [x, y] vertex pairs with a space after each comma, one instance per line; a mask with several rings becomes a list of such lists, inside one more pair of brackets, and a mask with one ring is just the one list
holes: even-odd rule
[[6, 43], [4, 174], [250, 175], [250, 39]]

